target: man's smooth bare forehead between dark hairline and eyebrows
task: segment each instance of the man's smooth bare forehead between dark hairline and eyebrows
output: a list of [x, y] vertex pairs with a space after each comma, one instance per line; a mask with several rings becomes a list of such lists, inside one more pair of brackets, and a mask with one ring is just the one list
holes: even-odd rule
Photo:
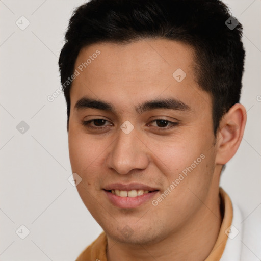
[[121, 109], [159, 97], [174, 97], [192, 108], [208, 103], [204, 109], [211, 108], [210, 95], [196, 83], [194, 68], [194, 50], [173, 40], [93, 44], [82, 48], [76, 59], [79, 75], [72, 83], [71, 105], [88, 95]]

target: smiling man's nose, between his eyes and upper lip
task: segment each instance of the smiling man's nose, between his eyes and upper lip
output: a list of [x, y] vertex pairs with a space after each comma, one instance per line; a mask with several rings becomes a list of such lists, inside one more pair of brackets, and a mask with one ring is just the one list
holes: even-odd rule
[[125, 134], [120, 130], [109, 151], [107, 167], [119, 174], [130, 174], [133, 169], [146, 169], [149, 164], [147, 150], [135, 131]]

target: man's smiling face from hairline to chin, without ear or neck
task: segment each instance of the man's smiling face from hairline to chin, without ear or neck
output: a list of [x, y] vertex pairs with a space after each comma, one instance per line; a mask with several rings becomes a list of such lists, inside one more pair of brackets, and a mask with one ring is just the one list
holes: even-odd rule
[[193, 57], [162, 39], [94, 44], [77, 57], [70, 162], [84, 204], [112, 239], [166, 238], [217, 191], [212, 100]]

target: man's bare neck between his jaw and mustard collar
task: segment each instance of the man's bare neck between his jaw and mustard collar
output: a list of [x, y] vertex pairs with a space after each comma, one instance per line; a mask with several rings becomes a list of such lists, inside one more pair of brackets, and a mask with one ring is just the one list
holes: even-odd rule
[[[213, 193], [214, 194], [214, 193]], [[157, 260], [203, 261], [211, 253], [222, 223], [219, 189], [202, 202], [201, 208], [186, 225], [153, 245], [129, 245], [108, 237], [108, 261]]]

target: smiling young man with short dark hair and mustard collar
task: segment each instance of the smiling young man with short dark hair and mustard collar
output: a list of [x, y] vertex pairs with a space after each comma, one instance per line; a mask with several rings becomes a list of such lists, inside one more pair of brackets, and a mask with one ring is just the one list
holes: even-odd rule
[[219, 188], [246, 124], [241, 36], [218, 0], [74, 11], [59, 59], [70, 162], [104, 230], [78, 261], [249, 260]]

